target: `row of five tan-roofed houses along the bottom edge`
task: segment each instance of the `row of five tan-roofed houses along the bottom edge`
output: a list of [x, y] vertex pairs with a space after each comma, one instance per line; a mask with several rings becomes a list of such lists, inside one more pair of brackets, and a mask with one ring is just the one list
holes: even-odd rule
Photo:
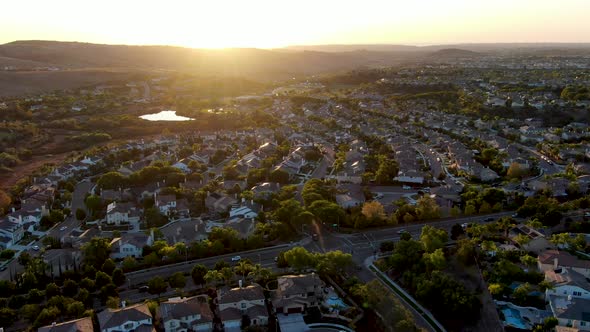
[[[181, 331], [241, 331], [247, 325], [265, 326], [270, 312], [276, 314], [303, 313], [319, 307], [325, 297], [325, 284], [316, 274], [286, 275], [278, 278], [278, 287], [267, 299], [258, 284], [236, 288], [220, 288], [211, 299], [208, 295], [170, 298], [159, 305], [158, 313], [147, 304], [106, 309], [97, 314], [100, 332], [155, 331], [159, 321], [166, 332]], [[40, 332], [94, 331], [91, 318], [54, 323]]]

